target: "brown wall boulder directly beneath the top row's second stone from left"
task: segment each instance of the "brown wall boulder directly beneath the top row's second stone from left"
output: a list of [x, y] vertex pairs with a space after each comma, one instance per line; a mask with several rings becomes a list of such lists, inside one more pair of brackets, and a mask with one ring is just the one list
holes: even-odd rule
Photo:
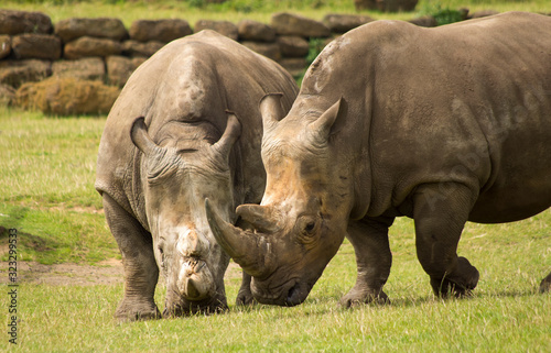
[[66, 59], [77, 59], [87, 56], [106, 57], [109, 55], [119, 55], [121, 52], [122, 45], [120, 42], [82, 36], [78, 40], [65, 44], [63, 57]]

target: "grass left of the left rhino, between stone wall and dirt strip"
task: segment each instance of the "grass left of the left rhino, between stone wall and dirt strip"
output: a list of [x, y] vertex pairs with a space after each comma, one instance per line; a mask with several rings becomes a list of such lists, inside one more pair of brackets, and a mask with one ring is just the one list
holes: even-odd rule
[[[0, 225], [22, 235], [19, 260], [96, 263], [119, 256], [94, 189], [104, 124], [105, 117], [45, 118], [0, 108]], [[0, 234], [0, 244], [7, 236]]]

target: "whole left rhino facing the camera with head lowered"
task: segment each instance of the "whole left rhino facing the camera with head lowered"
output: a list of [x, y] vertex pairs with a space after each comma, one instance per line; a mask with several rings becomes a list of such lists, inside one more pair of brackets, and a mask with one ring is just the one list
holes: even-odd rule
[[270, 91], [289, 110], [298, 88], [281, 66], [213, 31], [168, 44], [130, 77], [107, 119], [96, 179], [125, 264], [118, 318], [160, 317], [159, 268], [165, 315], [227, 308], [229, 256], [204, 200], [230, 222], [238, 205], [260, 202], [258, 102]]

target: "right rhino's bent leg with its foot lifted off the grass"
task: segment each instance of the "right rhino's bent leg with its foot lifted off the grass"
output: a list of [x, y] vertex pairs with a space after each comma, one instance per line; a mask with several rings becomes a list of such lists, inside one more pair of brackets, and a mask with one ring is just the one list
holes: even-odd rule
[[457, 256], [457, 243], [475, 199], [475, 194], [462, 184], [430, 184], [415, 191], [417, 253], [436, 296], [453, 293], [462, 297], [478, 283], [478, 271]]

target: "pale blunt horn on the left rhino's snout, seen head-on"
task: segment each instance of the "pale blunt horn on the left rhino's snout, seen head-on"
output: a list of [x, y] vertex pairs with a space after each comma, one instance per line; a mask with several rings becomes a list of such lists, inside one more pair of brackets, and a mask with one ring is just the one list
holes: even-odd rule
[[177, 278], [180, 295], [187, 300], [202, 300], [215, 291], [213, 274], [202, 260], [187, 258]]

